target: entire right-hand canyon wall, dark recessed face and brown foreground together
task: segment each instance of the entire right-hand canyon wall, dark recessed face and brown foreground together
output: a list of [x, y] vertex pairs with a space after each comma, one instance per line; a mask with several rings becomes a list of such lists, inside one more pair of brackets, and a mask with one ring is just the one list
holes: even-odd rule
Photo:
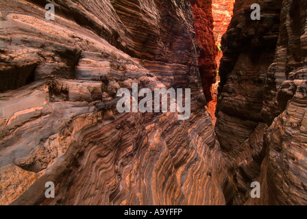
[[[260, 21], [251, 21], [258, 3]], [[306, 1], [241, 1], [223, 36], [215, 128], [228, 204], [306, 205]], [[231, 179], [232, 177], [232, 179]], [[261, 198], [251, 198], [252, 181]]]

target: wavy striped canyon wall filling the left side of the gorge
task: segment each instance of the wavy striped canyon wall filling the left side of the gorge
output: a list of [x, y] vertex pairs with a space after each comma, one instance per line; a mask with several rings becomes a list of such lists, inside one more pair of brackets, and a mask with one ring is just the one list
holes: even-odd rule
[[[193, 28], [208, 2], [0, 1], [0, 204], [225, 204], [198, 62], [215, 67], [214, 45]], [[120, 114], [132, 83], [191, 88], [191, 118]]]

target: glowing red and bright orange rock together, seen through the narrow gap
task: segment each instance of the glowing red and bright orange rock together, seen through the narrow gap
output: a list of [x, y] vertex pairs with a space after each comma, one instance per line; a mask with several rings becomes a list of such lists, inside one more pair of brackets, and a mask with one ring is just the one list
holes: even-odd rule
[[[217, 70], [223, 56], [221, 37], [225, 34], [230, 20], [235, 0], [191, 0], [195, 18], [195, 40], [199, 43], [199, 73], [204, 88], [207, 105], [213, 125], [217, 120], [215, 108], [217, 105], [217, 87], [219, 77]], [[214, 29], [212, 29], [214, 27]]]

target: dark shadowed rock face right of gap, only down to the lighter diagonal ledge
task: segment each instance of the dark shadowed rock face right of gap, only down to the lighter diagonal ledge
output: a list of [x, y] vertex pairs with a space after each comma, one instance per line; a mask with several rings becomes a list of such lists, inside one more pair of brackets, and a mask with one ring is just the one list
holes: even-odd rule
[[262, 19], [252, 21], [249, 2], [236, 1], [232, 22], [222, 40], [216, 131], [222, 149], [233, 155], [238, 154], [238, 145], [258, 123], [263, 123], [265, 77], [278, 40], [281, 1], [258, 3]]

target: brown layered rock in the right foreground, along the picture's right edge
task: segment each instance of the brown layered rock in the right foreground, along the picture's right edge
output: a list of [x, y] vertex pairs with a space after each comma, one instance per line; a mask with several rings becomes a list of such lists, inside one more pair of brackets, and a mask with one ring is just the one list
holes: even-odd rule
[[270, 125], [260, 181], [267, 195], [249, 204], [307, 204], [307, 2], [284, 0], [262, 117]]

